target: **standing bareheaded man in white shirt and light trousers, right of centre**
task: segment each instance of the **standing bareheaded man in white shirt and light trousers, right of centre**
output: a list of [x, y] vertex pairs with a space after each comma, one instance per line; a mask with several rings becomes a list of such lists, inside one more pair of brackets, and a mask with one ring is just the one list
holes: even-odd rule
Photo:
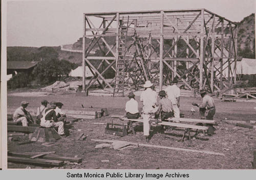
[[180, 117], [180, 88], [178, 88], [177, 84], [178, 81], [174, 80], [172, 84], [165, 89], [168, 98], [173, 104], [174, 117]]

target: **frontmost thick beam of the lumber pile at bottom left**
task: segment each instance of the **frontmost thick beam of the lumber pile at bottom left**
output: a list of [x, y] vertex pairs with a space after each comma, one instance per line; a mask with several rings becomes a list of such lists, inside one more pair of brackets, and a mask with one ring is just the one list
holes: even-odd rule
[[39, 166], [62, 166], [63, 165], [63, 161], [58, 161], [58, 160], [30, 159], [30, 158], [12, 157], [12, 156], [8, 156], [8, 162], [35, 164]]

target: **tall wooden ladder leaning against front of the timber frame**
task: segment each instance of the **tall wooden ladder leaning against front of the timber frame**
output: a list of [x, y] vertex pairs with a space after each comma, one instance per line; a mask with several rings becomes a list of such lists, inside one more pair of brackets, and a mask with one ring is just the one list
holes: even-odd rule
[[123, 23], [123, 17], [120, 21], [119, 25], [119, 44], [118, 44], [118, 59], [117, 59], [117, 66], [116, 66], [116, 76], [115, 76], [115, 87], [113, 96], [115, 93], [119, 93], [121, 91], [122, 96], [124, 96], [124, 78], [125, 78], [125, 53], [126, 53], [126, 37], [128, 32], [128, 25], [129, 25], [129, 16], [127, 18], [127, 25], [125, 26]]

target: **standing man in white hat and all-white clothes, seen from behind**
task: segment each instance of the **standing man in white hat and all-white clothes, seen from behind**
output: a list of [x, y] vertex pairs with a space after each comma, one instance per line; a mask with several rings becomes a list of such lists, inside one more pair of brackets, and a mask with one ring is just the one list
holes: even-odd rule
[[141, 92], [140, 100], [143, 101], [142, 116], [143, 116], [143, 132], [146, 137], [146, 141], [149, 141], [150, 135], [150, 117], [157, 112], [157, 93], [152, 89], [153, 84], [150, 81], [146, 81], [143, 87], [145, 91]]

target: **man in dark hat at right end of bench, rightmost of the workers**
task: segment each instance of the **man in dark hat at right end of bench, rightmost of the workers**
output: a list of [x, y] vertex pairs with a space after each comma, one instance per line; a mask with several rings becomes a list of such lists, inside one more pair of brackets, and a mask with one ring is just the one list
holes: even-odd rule
[[[200, 95], [201, 97], [203, 97], [202, 104], [198, 105], [195, 102], [192, 102], [192, 105], [199, 107], [201, 118], [214, 120], [214, 115], [216, 111], [214, 99], [212, 99], [212, 97], [209, 96], [205, 90], [201, 90]], [[207, 134], [208, 135], [214, 134], [214, 126], [208, 123], [206, 125], [209, 127], [207, 130]]]

